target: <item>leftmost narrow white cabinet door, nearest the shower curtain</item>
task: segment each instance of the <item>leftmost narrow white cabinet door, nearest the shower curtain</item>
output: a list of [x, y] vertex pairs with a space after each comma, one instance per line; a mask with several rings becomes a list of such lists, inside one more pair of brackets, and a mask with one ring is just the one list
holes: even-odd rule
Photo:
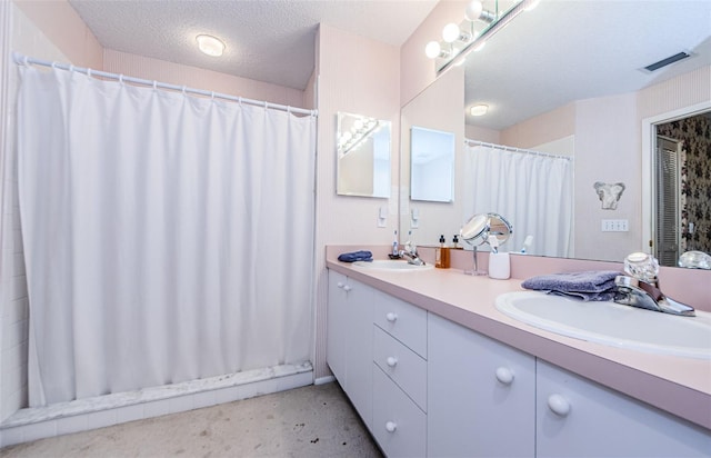
[[329, 270], [327, 306], [326, 361], [342, 387], [346, 386], [346, 348], [348, 330], [348, 278]]

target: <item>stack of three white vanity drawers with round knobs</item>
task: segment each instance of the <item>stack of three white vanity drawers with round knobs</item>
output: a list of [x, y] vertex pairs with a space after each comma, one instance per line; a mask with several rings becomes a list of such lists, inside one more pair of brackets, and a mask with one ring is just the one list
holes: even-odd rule
[[373, 422], [388, 457], [427, 452], [427, 311], [377, 293], [373, 315]]

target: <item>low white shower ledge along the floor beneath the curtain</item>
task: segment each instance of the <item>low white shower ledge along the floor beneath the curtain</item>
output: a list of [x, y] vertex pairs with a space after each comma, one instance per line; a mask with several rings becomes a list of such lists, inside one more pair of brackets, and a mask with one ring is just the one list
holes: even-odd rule
[[0, 447], [216, 406], [313, 384], [311, 362], [272, 366], [26, 408], [0, 424]]

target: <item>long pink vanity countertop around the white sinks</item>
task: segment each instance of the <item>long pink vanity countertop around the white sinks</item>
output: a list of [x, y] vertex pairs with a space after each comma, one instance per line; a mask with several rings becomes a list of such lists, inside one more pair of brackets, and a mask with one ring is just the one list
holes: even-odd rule
[[[338, 261], [352, 247], [327, 247], [327, 267], [563, 369], [711, 429], [711, 360], [653, 355], [560, 336], [494, 307], [520, 279], [472, 277], [460, 269], [368, 270]], [[383, 247], [365, 247], [385, 259]], [[471, 252], [468, 252], [471, 256]], [[463, 255], [463, 253], [462, 253]], [[428, 255], [422, 255], [428, 260]], [[453, 266], [457, 266], [453, 262]], [[607, 268], [607, 267], [605, 267]]]

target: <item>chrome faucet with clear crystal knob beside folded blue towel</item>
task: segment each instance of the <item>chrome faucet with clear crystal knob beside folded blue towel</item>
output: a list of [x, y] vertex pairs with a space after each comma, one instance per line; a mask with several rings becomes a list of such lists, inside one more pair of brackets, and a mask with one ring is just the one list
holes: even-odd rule
[[651, 255], [633, 252], [628, 256], [624, 271], [631, 277], [618, 276], [614, 279], [618, 289], [615, 302], [682, 317], [697, 315], [693, 307], [662, 293], [657, 282], [659, 263]]

